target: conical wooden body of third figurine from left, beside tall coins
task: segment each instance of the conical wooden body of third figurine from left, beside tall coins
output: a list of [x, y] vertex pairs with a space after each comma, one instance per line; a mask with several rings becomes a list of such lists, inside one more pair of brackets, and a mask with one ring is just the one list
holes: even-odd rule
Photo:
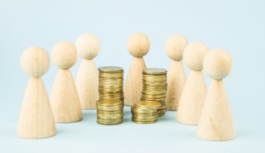
[[75, 79], [82, 109], [96, 109], [99, 74], [93, 59], [83, 59]]

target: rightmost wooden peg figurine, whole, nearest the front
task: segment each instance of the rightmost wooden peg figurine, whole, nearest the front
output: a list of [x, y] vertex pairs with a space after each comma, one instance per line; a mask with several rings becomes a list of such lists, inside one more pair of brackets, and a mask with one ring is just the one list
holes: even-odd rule
[[213, 141], [233, 139], [236, 131], [223, 83], [223, 78], [231, 72], [232, 58], [225, 50], [211, 50], [205, 55], [203, 68], [213, 80], [205, 98], [197, 136]]

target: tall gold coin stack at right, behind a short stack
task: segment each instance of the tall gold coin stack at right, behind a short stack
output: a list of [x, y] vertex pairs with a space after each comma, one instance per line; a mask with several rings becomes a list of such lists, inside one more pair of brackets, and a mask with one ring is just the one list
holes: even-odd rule
[[140, 100], [160, 102], [157, 108], [158, 117], [164, 116], [166, 108], [166, 69], [147, 68], [142, 70], [142, 95]]

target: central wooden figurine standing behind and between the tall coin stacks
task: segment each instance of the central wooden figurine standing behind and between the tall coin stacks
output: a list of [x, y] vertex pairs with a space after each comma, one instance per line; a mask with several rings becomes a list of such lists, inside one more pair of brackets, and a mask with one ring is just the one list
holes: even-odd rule
[[149, 38], [143, 33], [132, 34], [127, 41], [127, 50], [133, 56], [124, 86], [124, 104], [132, 106], [141, 98], [142, 69], [145, 69], [143, 56], [150, 49]]

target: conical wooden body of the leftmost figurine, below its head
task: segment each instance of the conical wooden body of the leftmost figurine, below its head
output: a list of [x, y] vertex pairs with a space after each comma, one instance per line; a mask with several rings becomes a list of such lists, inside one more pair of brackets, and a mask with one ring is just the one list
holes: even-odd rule
[[39, 139], [55, 133], [54, 117], [44, 83], [41, 77], [31, 77], [21, 107], [17, 135]]

